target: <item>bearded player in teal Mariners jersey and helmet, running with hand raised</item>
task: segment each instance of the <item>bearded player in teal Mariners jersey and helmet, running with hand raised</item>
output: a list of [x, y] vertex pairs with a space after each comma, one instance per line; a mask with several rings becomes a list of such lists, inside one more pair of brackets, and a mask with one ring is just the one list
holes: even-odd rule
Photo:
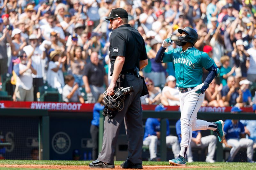
[[[197, 120], [197, 112], [204, 101], [204, 92], [208, 88], [215, 76], [218, 76], [220, 69], [214, 61], [206, 53], [194, 48], [198, 35], [196, 31], [190, 27], [178, 29], [180, 36], [176, 48], [168, 52], [164, 52], [168, 46], [173, 44], [171, 37], [163, 41], [162, 47], [156, 54], [156, 62], [172, 62], [175, 69], [176, 85], [180, 94], [180, 127], [181, 127], [181, 149], [180, 154], [169, 160], [172, 165], [186, 165], [186, 152], [188, 150], [192, 130], [211, 129], [217, 132], [220, 143], [224, 140], [222, 120], [217, 122], [206, 122]], [[202, 83], [202, 68], [209, 71], [207, 78]]]

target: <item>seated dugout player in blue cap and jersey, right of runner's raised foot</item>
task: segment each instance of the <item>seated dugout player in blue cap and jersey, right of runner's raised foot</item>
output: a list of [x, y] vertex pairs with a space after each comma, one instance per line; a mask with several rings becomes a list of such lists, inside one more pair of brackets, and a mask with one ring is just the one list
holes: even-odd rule
[[[242, 110], [236, 106], [231, 108], [232, 114], [237, 114], [241, 111]], [[253, 163], [253, 141], [245, 138], [244, 124], [239, 120], [226, 120], [223, 129], [226, 137], [226, 140], [223, 142], [223, 147], [232, 147], [227, 162], [233, 161], [240, 148], [247, 148], [247, 162]]]

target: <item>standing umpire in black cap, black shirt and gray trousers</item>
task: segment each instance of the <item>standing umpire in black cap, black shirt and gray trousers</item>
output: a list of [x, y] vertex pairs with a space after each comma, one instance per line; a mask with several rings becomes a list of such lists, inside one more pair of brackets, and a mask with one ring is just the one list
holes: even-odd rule
[[107, 89], [113, 95], [118, 87], [133, 87], [126, 96], [124, 108], [114, 116], [106, 116], [104, 122], [103, 146], [98, 159], [89, 164], [90, 168], [114, 168], [114, 152], [119, 126], [124, 120], [128, 138], [128, 159], [122, 168], [142, 168], [143, 126], [140, 95], [143, 79], [139, 69], [148, 64], [145, 42], [140, 33], [128, 24], [128, 13], [122, 8], [112, 9], [108, 18], [112, 26], [109, 57], [112, 79]]

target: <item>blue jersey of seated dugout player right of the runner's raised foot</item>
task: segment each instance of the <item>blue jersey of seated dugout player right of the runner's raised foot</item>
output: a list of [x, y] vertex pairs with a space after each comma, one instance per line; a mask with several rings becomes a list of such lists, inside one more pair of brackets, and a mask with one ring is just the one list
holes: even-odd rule
[[240, 121], [237, 124], [232, 124], [231, 120], [226, 120], [224, 124], [224, 133], [226, 139], [240, 138], [240, 134], [244, 134], [244, 125]]

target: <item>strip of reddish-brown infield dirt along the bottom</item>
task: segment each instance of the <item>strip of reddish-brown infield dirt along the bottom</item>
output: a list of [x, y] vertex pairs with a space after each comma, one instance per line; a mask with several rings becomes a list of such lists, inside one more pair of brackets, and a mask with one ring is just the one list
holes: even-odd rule
[[[40, 169], [90, 169], [89, 166], [63, 166], [63, 165], [0, 165], [8, 168], [40, 168]], [[173, 169], [173, 168], [216, 168], [209, 166], [143, 166], [143, 169]], [[93, 168], [96, 169], [96, 168]], [[100, 169], [100, 168], [98, 168]], [[122, 169], [115, 166], [115, 169]]]

